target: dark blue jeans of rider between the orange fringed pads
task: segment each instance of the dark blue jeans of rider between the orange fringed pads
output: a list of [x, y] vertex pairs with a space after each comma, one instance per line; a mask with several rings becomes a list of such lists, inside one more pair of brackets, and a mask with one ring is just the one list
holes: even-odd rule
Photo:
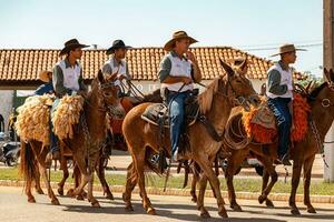
[[289, 98], [268, 99], [268, 107], [273, 110], [278, 124], [278, 158], [282, 158], [288, 151], [291, 143], [289, 131], [292, 127], [292, 117], [288, 110]]

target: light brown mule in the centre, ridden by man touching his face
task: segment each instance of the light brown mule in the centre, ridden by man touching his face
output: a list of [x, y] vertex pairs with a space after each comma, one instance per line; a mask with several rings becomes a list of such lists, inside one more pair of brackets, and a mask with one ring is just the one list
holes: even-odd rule
[[[257, 102], [257, 97], [252, 83], [244, 75], [235, 73], [235, 71], [225, 62], [220, 61], [227, 75], [215, 79], [209, 87], [198, 97], [200, 113], [207, 118], [213, 127], [222, 134], [225, 123], [229, 115], [230, 109], [235, 105], [235, 99], [244, 99], [244, 101]], [[128, 167], [126, 191], [124, 193], [124, 201], [126, 202], [126, 210], [132, 210], [131, 192], [137, 181], [143, 198], [143, 206], [149, 214], [156, 214], [155, 209], [147, 196], [145, 189], [145, 167], [147, 153], [153, 150], [158, 152], [160, 148], [165, 148], [170, 153], [169, 132], [165, 132], [164, 138], [157, 137], [159, 129], [141, 119], [143, 112], [151, 103], [139, 104], [126, 115], [122, 132], [126, 139], [129, 152], [132, 157], [132, 163]], [[246, 105], [246, 103], [244, 103]], [[208, 133], [206, 127], [200, 122], [188, 128], [190, 152], [186, 152], [185, 159], [193, 159], [196, 161], [204, 171], [204, 174], [210, 181], [214, 191], [217, 195], [218, 213], [227, 218], [224, 200], [219, 190], [219, 181], [210, 168], [222, 142], [215, 141]], [[196, 135], [202, 137], [196, 137]], [[203, 216], [209, 215], [204, 208], [203, 202], [198, 204], [198, 209]]]

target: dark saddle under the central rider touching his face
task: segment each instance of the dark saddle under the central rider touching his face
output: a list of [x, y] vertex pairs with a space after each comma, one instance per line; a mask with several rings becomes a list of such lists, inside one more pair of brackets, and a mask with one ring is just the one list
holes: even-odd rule
[[[185, 108], [186, 124], [191, 125], [196, 122], [199, 109], [197, 103], [187, 104]], [[168, 108], [164, 103], [154, 103], [146, 108], [141, 119], [155, 124], [169, 128]], [[161, 124], [159, 123], [161, 121]]]

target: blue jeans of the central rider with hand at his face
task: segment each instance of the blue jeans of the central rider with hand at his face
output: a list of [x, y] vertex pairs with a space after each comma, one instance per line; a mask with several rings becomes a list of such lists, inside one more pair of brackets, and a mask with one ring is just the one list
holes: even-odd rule
[[171, 154], [178, 148], [179, 135], [184, 131], [185, 122], [185, 99], [189, 97], [189, 92], [169, 92], [167, 98], [169, 109], [169, 127]]

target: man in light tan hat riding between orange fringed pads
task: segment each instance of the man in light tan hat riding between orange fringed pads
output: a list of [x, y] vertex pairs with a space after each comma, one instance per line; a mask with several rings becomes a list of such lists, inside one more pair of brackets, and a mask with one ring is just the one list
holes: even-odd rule
[[296, 61], [296, 49], [294, 44], [279, 47], [281, 60], [268, 70], [268, 107], [273, 110], [278, 124], [278, 161], [284, 165], [291, 165], [288, 145], [291, 144], [291, 130], [293, 128], [293, 70], [289, 64]]

